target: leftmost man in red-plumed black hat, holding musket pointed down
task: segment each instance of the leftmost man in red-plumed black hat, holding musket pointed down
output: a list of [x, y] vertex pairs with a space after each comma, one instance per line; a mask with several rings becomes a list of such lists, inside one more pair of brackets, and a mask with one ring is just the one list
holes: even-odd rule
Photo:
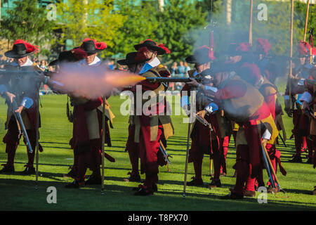
[[[21, 135], [19, 130], [22, 126], [17, 122], [13, 114], [13, 101], [15, 101], [18, 106], [18, 110], [15, 110], [15, 112], [20, 113], [22, 117], [23, 124], [27, 130], [27, 136], [29, 137], [33, 149], [32, 153], [27, 150], [28, 162], [22, 174], [35, 174], [34, 149], [37, 144], [37, 129], [40, 127], [40, 120], [38, 120], [39, 124], [37, 124], [40, 79], [37, 78], [39, 78], [38, 73], [41, 70], [37, 65], [32, 63], [29, 56], [37, 51], [39, 51], [37, 46], [18, 39], [14, 42], [13, 49], [4, 53], [6, 57], [14, 58], [14, 62], [11, 63], [11, 65], [7, 65], [5, 69], [11, 71], [16, 70], [16, 73], [0, 75], [0, 93], [1, 96], [6, 98], [6, 104], [8, 105], [8, 117], [6, 121], [6, 129], [8, 129], [8, 131], [3, 140], [4, 143], [6, 143], [8, 161], [0, 172], [14, 172], [15, 151], [20, 141]], [[39, 145], [39, 150], [43, 150], [41, 145]]]

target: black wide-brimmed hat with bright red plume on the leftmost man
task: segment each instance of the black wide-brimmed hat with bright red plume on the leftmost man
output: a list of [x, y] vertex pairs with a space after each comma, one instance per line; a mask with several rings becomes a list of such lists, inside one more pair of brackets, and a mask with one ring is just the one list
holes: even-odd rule
[[37, 46], [33, 46], [26, 41], [18, 39], [14, 42], [13, 49], [10, 51], [6, 51], [4, 55], [8, 58], [22, 58], [25, 56], [29, 56], [37, 51], [39, 51], [39, 49], [37, 49]]

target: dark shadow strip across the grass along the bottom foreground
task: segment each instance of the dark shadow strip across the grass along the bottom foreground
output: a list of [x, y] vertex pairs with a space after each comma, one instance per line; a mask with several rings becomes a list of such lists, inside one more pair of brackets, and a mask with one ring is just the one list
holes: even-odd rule
[[[105, 184], [104, 200], [99, 185], [86, 186], [80, 189], [65, 188], [67, 182], [39, 181], [35, 189], [34, 181], [18, 179], [1, 179], [2, 198], [5, 210], [315, 210], [315, 207], [302, 206], [296, 201], [282, 201], [282, 198], [268, 200], [268, 204], [258, 204], [256, 198], [243, 200], [221, 200], [220, 194], [192, 193], [187, 191], [183, 198], [182, 191], [159, 190], [151, 196], [134, 196], [131, 186]], [[46, 188], [54, 186], [58, 190], [58, 204], [46, 203]], [[17, 188], [19, 187], [19, 188]], [[20, 193], [23, 188], [23, 193]], [[152, 201], [154, 207], [148, 207]], [[139, 202], [139, 204], [137, 204]], [[12, 203], [13, 202], [13, 203]], [[11, 205], [8, 203], [12, 203]], [[106, 203], [106, 205], [104, 205]], [[166, 205], [166, 203], [170, 203]], [[184, 204], [185, 203], [185, 204]], [[183, 205], [184, 204], [184, 205]], [[187, 207], [190, 205], [190, 207]], [[312, 204], [315, 205], [315, 204]], [[0, 208], [4, 209], [4, 205]]]

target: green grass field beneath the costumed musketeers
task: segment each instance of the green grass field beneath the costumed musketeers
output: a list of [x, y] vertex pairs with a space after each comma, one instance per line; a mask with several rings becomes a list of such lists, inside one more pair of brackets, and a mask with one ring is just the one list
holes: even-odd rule
[[[112, 147], [105, 148], [116, 162], [105, 160], [105, 194], [101, 195], [100, 186], [86, 186], [81, 189], [66, 189], [65, 184], [72, 181], [62, 177], [72, 165], [72, 150], [68, 145], [72, 135], [72, 124], [66, 117], [66, 96], [41, 96], [42, 127], [40, 143], [44, 152], [39, 153], [39, 188], [35, 189], [35, 175], [21, 176], [27, 162], [26, 147], [18, 147], [15, 156], [15, 173], [0, 174], [0, 210], [174, 210], [174, 211], [204, 211], [204, 210], [316, 210], [316, 195], [311, 195], [316, 185], [316, 169], [312, 165], [289, 163], [294, 154], [294, 141], [288, 140], [287, 146], [277, 146], [282, 152], [282, 165], [287, 170], [287, 176], [279, 172], [279, 181], [286, 195], [268, 194], [268, 203], [259, 204], [257, 198], [244, 200], [220, 200], [221, 195], [229, 193], [229, 188], [235, 184], [232, 177], [235, 163], [235, 149], [230, 143], [228, 151], [228, 176], [222, 177], [222, 187], [209, 190], [205, 187], [187, 187], [186, 198], [183, 198], [183, 179], [185, 170], [185, 149], [187, 124], [183, 124], [183, 116], [173, 116], [175, 135], [168, 141], [168, 152], [173, 156], [171, 172], [166, 167], [160, 167], [158, 192], [150, 196], [134, 196], [131, 188], [138, 183], [123, 181], [131, 171], [128, 153], [124, 152], [127, 138], [128, 116], [119, 113], [121, 102], [119, 96], [112, 96], [109, 103], [116, 116], [114, 129], [111, 129]], [[178, 103], [177, 103], [178, 104]], [[1, 101], [0, 122], [4, 124], [6, 105]], [[291, 118], [284, 116], [287, 126], [287, 136], [290, 136]], [[4, 127], [0, 129], [1, 138], [5, 134]], [[22, 142], [22, 141], [21, 141]], [[0, 162], [6, 162], [4, 143], [0, 143]], [[305, 156], [307, 153], [303, 153]], [[303, 159], [305, 162], [306, 159]], [[88, 171], [91, 174], [91, 171]], [[145, 178], [145, 174], [141, 175]], [[188, 181], [194, 176], [192, 164], [189, 165]], [[265, 179], [267, 175], [264, 174]], [[209, 179], [209, 157], [203, 162], [204, 183]], [[49, 186], [57, 188], [57, 204], [46, 201]], [[259, 193], [257, 193], [258, 196]]]

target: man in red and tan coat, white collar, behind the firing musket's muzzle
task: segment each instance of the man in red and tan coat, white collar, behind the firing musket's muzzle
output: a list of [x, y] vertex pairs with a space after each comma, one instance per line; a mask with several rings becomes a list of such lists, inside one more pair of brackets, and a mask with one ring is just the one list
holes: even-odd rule
[[[139, 74], [143, 77], [161, 77], [155, 67], [160, 64], [157, 55], [166, 53], [166, 47], [159, 46], [154, 41], [144, 41], [142, 44], [136, 45], [135, 48], [138, 49], [135, 61], [144, 60], [144, 63], [138, 64], [138, 67], [141, 68]], [[147, 58], [150, 60], [145, 63]], [[159, 165], [166, 165], [166, 159], [159, 150], [163, 144], [162, 139], [166, 140], [173, 135], [171, 117], [166, 115], [168, 110], [166, 98], [159, 97], [159, 91], [165, 91], [166, 88], [166, 84], [147, 81], [140, 82], [131, 88], [134, 94], [138, 89], [142, 94], [145, 91], [151, 93], [150, 104], [147, 109], [143, 109], [143, 105], [148, 100], [142, 99], [140, 104], [136, 99], [134, 115], [129, 119], [131, 127], [135, 127], [135, 131], [129, 135], [133, 135], [133, 141], [138, 143], [140, 173], [145, 173], [144, 184], [135, 188], [135, 195], [152, 195], [154, 191], [157, 191]]]

